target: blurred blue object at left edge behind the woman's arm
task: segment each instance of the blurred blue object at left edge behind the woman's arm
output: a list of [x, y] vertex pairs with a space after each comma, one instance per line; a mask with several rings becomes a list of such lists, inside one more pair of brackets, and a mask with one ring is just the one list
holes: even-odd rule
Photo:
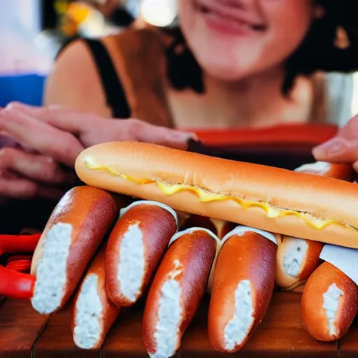
[[37, 73], [0, 76], [0, 107], [10, 101], [41, 106], [45, 78]]

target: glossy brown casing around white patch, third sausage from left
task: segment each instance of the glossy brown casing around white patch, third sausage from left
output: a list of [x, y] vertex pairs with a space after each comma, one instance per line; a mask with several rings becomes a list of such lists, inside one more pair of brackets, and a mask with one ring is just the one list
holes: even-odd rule
[[117, 306], [131, 306], [136, 301], [130, 301], [120, 293], [120, 281], [117, 280], [118, 264], [120, 262], [120, 247], [124, 235], [131, 225], [138, 224], [143, 235], [144, 273], [138, 300], [147, 287], [152, 274], [161, 259], [169, 240], [176, 233], [176, 219], [168, 210], [160, 206], [140, 204], [130, 208], [118, 220], [110, 233], [106, 250], [106, 287], [110, 301]]

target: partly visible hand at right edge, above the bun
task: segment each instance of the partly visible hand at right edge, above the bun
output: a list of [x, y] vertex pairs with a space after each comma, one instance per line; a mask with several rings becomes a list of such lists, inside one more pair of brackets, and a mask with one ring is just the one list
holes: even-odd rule
[[358, 115], [338, 130], [334, 138], [313, 148], [317, 161], [349, 163], [358, 172]]

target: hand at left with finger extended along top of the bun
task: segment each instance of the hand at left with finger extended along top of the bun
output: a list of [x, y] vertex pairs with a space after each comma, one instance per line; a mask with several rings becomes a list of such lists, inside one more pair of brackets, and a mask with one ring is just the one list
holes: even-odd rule
[[[0, 131], [20, 148], [0, 149], [0, 196], [61, 196], [52, 185], [72, 182], [78, 154], [109, 141], [145, 141], [186, 149], [192, 134], [140, 120], [115, 120], [66, 110], [10, 103], [0, 110]], [[49, 191], [50, 190], [50, 191]], [[55, 192], [54, 192], [55, 190]]]

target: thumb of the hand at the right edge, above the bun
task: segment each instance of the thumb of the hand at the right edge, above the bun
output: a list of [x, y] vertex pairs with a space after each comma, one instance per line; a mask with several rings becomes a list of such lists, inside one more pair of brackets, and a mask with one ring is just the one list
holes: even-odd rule
[[354, 163], [358, 160], [358, 141], [335, 137], [313, 148], [313, 156], [321, 162]]

